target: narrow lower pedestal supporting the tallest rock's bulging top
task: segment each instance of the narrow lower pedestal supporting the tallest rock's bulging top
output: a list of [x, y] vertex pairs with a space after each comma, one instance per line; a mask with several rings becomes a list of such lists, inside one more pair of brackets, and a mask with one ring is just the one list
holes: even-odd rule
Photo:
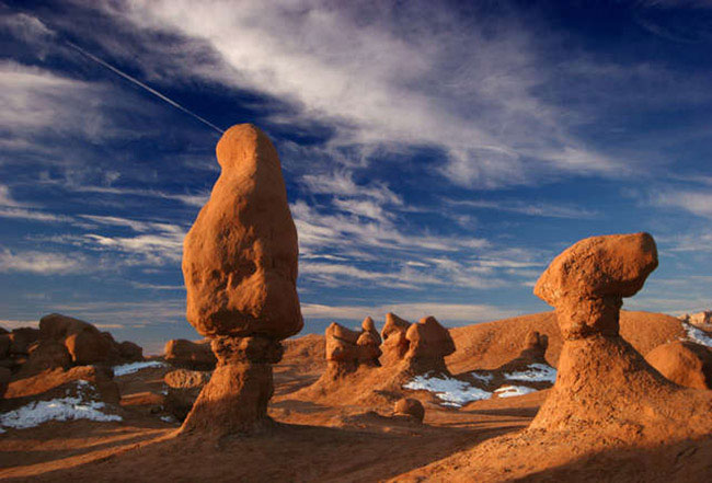
[[218, 337], [211, 342], [218, 365], [182, 433], [217, 436], [254, 434], [272, 424], [267, 403], [274, 393], [272, 365], [282, 359], [278, 341], [265, 337]]

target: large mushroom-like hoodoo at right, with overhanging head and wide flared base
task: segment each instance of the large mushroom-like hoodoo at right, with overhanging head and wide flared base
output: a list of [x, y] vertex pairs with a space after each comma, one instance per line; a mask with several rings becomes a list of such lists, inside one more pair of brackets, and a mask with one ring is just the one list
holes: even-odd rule
[[535, 294], [554, 306], [564, 345], [556, 382], [530, 428], [659, 441], [712, 429], [712, 393], [667, 381], [618, 333], [622, 298], [656, 266], [650, 234], [620, 234], [575, 243], [541, 275]]

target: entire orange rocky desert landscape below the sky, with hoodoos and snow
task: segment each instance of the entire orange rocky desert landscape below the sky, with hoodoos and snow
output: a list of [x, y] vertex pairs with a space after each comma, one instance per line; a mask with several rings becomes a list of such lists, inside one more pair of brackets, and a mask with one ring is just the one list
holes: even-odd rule
[[389, 313], [295, 337], [276, 151], [239, 125], [217, 157], [183, 254], [205, 338], [146, 359], [59, 314], [1, 333], [3, 481], [712, 479], [712, 334], [621, 310], [658, 265], [650, 234], [564, 250], [533, 290], [553, 312], [452, 330]]

